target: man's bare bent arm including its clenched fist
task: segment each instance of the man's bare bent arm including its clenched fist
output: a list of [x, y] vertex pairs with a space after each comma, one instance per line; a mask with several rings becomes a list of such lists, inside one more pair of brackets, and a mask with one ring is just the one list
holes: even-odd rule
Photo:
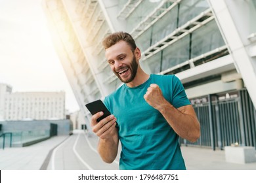
[[175, 108], [169, 103], [157, 84], [151, 84], [144, 95], [146, 102], [161, 112], [168, 124], [183, 139], [196, 142], [200, 137], [200, 124], [192, 105]]

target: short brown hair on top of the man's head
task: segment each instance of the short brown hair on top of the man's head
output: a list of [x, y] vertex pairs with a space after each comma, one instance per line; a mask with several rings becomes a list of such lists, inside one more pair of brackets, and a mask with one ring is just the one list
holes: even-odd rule
[[135, 41], [129, 33], [124, 33], [124, 32], [116, 32], [112, 33], [111, 35], [108, 35], [102, 42], [103, 46], [105, 49], [110, 48], [114, 44], [116, 44], [119, 41], [125, 41], [129, 46], [131, 46], [131, 50], [134, 52], [135, 49], [137, 48]]

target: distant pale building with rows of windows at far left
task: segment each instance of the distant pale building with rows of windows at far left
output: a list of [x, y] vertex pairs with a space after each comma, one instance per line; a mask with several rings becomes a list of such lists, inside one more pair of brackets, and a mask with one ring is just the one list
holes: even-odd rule
[[0, 84], [0, 119], [63, 120], [64, 92], [14, 92], [11, 86]]

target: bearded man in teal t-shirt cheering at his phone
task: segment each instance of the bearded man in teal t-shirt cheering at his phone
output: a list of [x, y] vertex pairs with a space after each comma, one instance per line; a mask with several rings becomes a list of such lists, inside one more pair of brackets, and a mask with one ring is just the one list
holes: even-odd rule
[[102, 112], [91, 118], [103, 161], [114, 161], [120, 141], [119, 169], [186, 169], [179, 136], [195, 142], [200, 124], [180, 80], [146, 74], [128, 33], [109, 35], [103, 46], [112, 71], [125, 83], [104, 99], [112, 115], [100, 122]]

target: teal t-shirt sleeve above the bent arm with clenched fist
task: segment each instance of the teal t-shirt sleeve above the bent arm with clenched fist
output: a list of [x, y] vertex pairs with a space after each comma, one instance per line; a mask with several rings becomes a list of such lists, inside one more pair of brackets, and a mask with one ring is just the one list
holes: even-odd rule
[[181, 83], [181, 80], [177, 76], [173, 76], [173, 103], [175, 108], [179, 108], [185, 105], [190, 105], [186, 92]]

